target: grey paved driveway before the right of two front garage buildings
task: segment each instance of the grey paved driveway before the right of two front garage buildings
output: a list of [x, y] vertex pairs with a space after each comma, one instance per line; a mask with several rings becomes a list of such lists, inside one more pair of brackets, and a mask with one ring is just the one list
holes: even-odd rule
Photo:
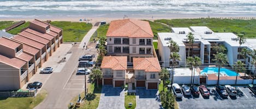
[[162, 108], [158, 95], [158, 90], [146, 90], [146, 88], [136, 88], [136, 109], [158, 109]]

